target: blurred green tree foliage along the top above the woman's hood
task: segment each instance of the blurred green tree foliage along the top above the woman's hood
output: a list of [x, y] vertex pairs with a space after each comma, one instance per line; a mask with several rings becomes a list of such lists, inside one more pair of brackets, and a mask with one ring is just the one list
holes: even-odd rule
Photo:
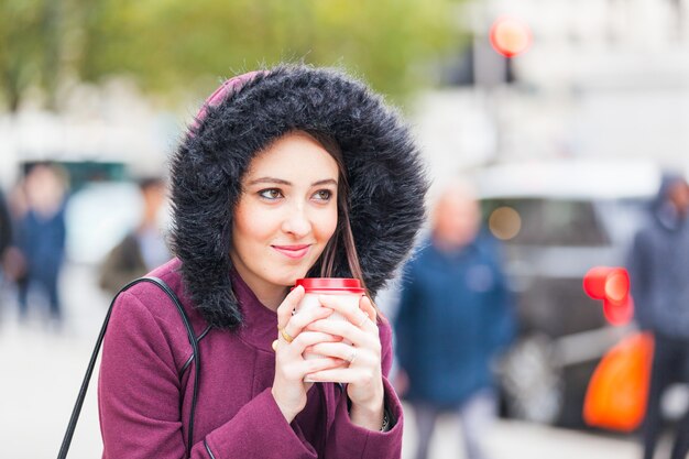
[[[46, 42], [36, 39], [48, 31], [17, 29], [22, 46], [43, 56], [37, 62], [50, 51], [85, 80], [129, 75], [143, 89], [169, 96], [206, 94], [218, 78], [261, 63], [304, 61], [342, 66], [378, 90], [404, 97], [433, 83], [430, 65], [460, 40], [453, 10], [460, 0], [0, 1], [14, 8], [63, 3], [59, 23], [69, 24], [62, 30], [72, 39], [51, 42], [52, 51], [41, 50]], [[4, 72], [3, 54], [0, 66]], [[50, 92], [45, 78], [23, 81], [18, 95], [32, 84]]]

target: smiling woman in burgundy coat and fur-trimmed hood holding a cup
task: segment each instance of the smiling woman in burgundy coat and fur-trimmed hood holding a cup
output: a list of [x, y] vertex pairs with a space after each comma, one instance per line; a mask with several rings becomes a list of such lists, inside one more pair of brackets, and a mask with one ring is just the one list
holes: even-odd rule
[[[400, 457], [391, 330], [370, 297], [412, 248], [425, 192], [408, 130], [360, 83], [307, 66], [226, 81], [173, 157], [176, 258], [151, 273], [181, 297], [200, 359], [162, 291], [120, 295], [103, 457], [183, 457], [195, 383], [193, 458]], [[293, 315], [306, 276], [354, 276], [370, 297]]]

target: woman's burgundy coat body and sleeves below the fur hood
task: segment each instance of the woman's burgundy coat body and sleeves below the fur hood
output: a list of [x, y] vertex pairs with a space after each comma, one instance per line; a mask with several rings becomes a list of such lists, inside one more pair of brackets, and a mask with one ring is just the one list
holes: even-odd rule
[[[400, 458], [402, 406], [385, 376], [392, 364], [391, 328], [379, 321], [385, 404], [396, 419], [386, 433], [353, 425], [338, 384], [314, 384], [304, 411], [287, 424], [271, 393], [277, 316], [243, 281], [232, 285], [244, 324], [238, 332], [208, 327], [182, 292], [173, 260], [151, 275], [179, 296], [197, 336], [201, 362], [193, 458]], [[194, 384], [192, 347], [178, 312], [155, 285], [122, 293], [103, 343], [98, 384], [103, 458], [184, 457]]]

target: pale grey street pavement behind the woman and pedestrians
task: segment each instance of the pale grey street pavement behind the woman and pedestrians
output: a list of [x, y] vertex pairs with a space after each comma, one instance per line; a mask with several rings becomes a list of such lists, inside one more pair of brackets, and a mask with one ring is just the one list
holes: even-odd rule
[[[17, 320], [11, 292], [0, 296], [0, 458], [57, 456], [81, 378], [105, 316], [108, 298], [95, 286], [89, 266], [68, 265], [62, 283], [66, 320], [62, 329], [39, 317]], [[95, 375], [95, 379], [97, 375]], [[95, 382], [95, 381], [94, 381]], [[405, 409], [403, 459], [412, 459], [414, 413]], [[641, 450], [626, 436], [557, 429], [499, 420], [486, 438], [494, 459], [635, 459]], [[89, 395], [70, 458], [101, 453], [95, 385]], [[431, 459], [461, 458], [455, 419], [441, 418], [431, 440]]]

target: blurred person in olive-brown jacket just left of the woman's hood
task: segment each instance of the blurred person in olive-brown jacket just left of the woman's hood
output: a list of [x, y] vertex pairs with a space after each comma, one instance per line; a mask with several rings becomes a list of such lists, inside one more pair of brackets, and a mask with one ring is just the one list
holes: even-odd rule
[[139, 189], [143, 199], [141, 222], [110, 250], [100, 265], [100, 287], [111, 295], [172, 258], [161, 228], [161, 212], [166, 200], [165, 181], [143, 177], [139, 179]]

